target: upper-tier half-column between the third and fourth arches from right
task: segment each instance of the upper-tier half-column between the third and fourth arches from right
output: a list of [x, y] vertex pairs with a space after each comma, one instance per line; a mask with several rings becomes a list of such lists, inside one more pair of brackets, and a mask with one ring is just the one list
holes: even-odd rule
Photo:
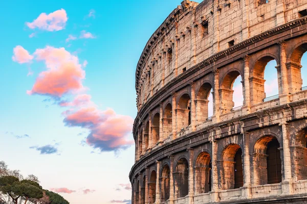
[[220, 73], [217, 68], [213, 69], [214, 74], [214, 91], [213, 95], [213, 117], [212, 122], [220, 122], [220, 94], [218, 93], [218, 87], [220, 86], [218, 78], [220, 77]]

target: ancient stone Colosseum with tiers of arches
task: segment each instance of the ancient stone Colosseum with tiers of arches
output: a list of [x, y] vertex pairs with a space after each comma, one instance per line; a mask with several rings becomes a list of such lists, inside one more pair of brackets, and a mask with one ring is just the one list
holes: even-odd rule
[[307, 203], [306, 9], [185, 0], [171, 12], [136, 70], [133, 204]]

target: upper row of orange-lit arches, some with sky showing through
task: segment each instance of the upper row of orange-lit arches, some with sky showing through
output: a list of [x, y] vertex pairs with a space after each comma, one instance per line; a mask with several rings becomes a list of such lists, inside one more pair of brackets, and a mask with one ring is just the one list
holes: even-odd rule
[[[288, 78], [289, 93], [287, 94], [301, 91], [302, 87], [305, 85], [303, 85], [301, 72], [307, 72], [307, 66], [302, 66], [301, 61], [306, 50], [307, 43], [302, 43], [297, 46], [293, 50], [290, 57], [288, 57], [288, 63], [286, 63], [288, 73], [286, 75]], [[214, 95], [212, 97], [212, 101], [209, 100], [209, 97], [211, 97], [210, 94], [214, 93], [214, 83], [210, 81], [203, 82], [203, 84], [193, 90], [195, 92], [194, 98], [192, 98], [192, 94], [190, 92], [184, 92], [180, 96], [176, 97], [176, 104], [172, 103], [171, 100], [166, 101], [166, 103], [163, 105], [162, 112], [160, 111], [155, 113], [152, 116], [151, 121], [147, 120], [144, 124], [140, 124], [140, 135], [137, 140], [137, 154], [142, 155], [144, 150], [146, 151], [146, 149], [151, 148], [151, 146], [155, 145], [158, 141], [167, 138], [171, 133], [180, 132], [182, 128], [186, 128], [191, 125], [192, 121], [194, 121], [194, 125], [197, 125], [207, 121], [209, 116], [214, 114], [214, 112], [215, 115], [217, 115], [216, 112], [218, 112], [218, 115], [231, 112], [235, 105], [234, 101], [236, 101], [236, 98], [238, 98], [238, 95], [240, 95], [234, 95], [233, 90], [237, 79], [242, 78], [249, 81], [249, 90], [245, 90], [245, 83], [242, 83], [243, 93], [241, 95], [244, 95], [244, 101], [241, 103], [242, 105], [247, 105], [247, 94], [249, 95], [251, 106], [262, 103], [265, 98], [267, 98], [267, 94], [265, 92], [266, 80], [264, 79], [266, 66], [270, 61], [276, 61], [276, 64], [278, 64], [276, 66], [276, 85], [270, 86], [270, 88], [276, 88], [278, 89], [278, 94], [282, 94], [283, 87], [281, 86], [282, 77], [280, 70], [280, 59], [272, 54], [261, 56], [250, 69], [249, 79], [244, 79], [245, 74], [239, 69], [235, 68], [224, 74], [223, 80], [221, 80], [221, 82], [218, 84], [219, 89], [217, 89], [220, 101], [218, 106], [215, 104], [217, 102], [214, 99]], [[304, 69], [306, 69], [306, 71], [304, 71]], [[195, 103], [194, 107], [191, 105], [192, 102]], [[214, 110], [214, 107], [218, 107], [218, 110]], [[194, 116], [191, 115], [191, 111], [195, 112]], [[151, 116], [147, 116], [147, 118], [149, 117]], [[173, 121], [174, 119], [175, 121]], [[173, 123], [176, 123], [176, 125], [173, 125]], [[162, 128], [161, 125], [163, 126]]]

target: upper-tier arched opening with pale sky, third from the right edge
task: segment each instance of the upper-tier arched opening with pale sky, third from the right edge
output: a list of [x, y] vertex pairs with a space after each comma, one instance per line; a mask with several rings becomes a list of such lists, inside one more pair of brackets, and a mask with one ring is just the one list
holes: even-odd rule
[[221, 98], [221, 113], [229, 113], [243, 105], [242, 77], [238, 71], [229, 72], [223, 80], [219, 91]]

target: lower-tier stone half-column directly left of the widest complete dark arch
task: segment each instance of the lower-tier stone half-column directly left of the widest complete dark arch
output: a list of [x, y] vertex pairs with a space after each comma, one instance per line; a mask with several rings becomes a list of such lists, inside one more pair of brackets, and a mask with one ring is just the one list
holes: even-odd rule
[[244, 186], [242, 188], [242, 196], [246, 199], [251, 198], [251, 173], [250, 173], [250, 154], [249, 154], [249, 145], [250, 145], [250, 135], [245, 131], [241, 131], [243, 134], [243, 170], [244, 170]]

